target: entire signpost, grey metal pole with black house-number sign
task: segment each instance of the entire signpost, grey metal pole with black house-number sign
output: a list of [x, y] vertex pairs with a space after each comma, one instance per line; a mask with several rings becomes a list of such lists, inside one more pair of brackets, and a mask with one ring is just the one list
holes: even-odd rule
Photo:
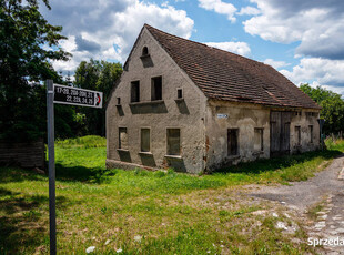
[[50, 254], [57, 254], [57, 214], [55, 214], [55, 162], [54, 162], [54, 123], [53, 104], [71, 104], [79, 106], [102, 108], [103, 93], [73, 86], [53, 84], [47, 80], [48, 113], [48, 153], [49, 153], [49, 221]]

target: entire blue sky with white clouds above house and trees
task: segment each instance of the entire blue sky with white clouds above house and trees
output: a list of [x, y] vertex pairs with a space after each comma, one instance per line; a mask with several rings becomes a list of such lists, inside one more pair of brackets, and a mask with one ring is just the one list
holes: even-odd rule
[[342, 0], [59, 0], [43, 16], [63, 27], [75, 70], [90, 58], [124, 62], [142, 26], [265, 62], [295, 84], [344, 94]]

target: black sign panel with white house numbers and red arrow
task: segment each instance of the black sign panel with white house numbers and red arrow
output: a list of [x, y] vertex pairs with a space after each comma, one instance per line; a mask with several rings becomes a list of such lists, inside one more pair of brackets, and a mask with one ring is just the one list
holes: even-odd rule
[[54, 103], [73, 104], [89, 108], [102, 108], [103, 93], [73, 86], [53, 84]]

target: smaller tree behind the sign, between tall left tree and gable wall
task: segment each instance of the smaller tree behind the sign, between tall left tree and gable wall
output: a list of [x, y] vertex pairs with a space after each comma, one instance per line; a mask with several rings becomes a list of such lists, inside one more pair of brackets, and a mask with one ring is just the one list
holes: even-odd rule
[[[74, 85], [82, 89], [103, 92], [103, 102], [107, 102], [115, 80], [122, 73], [120, 63], [107, 61], [82, 61], [74, 74]], [[85, 125], [89, 134], [105, 135], [105, 109], [82, 108], [79, 112], [85, 114]]]

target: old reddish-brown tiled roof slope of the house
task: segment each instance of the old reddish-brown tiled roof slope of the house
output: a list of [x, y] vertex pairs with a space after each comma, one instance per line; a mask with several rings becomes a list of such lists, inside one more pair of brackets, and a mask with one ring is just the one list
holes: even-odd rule
[[267, 64], [144, 27], [210, 99], [320, 109]]

